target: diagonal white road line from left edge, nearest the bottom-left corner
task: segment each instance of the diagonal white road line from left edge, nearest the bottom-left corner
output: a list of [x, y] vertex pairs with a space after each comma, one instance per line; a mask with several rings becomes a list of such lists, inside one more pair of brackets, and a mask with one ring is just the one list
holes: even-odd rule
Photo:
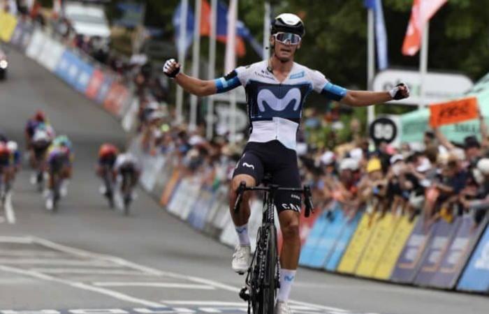
[[98, 292], [100, 294], [105, 294], [105, 295], [108, 295], [108, 296], [113, 297], [115, 299], [133, 302], [136, 304], [142, 304], [143, 306], [149, 306], [152, 308], [166, 307], [166, 305], [158, 303], [158, 302], [153, 302], [153, 301], [149, 301], [149, 300], [145, 300], [145, 299], [131, 297], [131, 296], [124, 294], [124, 293], [121, 293], [121, 292], [108, 290], [108, 289], [105, 289], [102, 287], [93, 287], [92, 285], [87, 285], [85, 283], [78, 283], [75, 281], [67, 281], [65, 279], [55, 278], [55, 277], [52, 277], [52, 276], [49, 276], [46, 274], [42, 274], [42, 273], [37, 272], [37, 271], [20, 269], [20, 268], [3, 266], [3, 265], [0, 265], [0, 270], [8, 271], [10, 273], [15, 273], [15, 274], [21, 274], [24, 276], [31, 276], [34, 278], [43, 279], [45, 281], [54, 281], [57, 283], [63, 283], [64, 285], [69, 285], [71, 287], [77, 287], [77, 288], [92, 291], [92, 292]]

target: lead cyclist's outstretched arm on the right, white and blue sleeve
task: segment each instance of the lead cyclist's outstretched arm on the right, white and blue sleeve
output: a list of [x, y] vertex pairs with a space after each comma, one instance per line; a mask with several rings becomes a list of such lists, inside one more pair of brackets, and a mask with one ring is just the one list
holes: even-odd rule
[[391, 91], [349, 91], [329, 82], [319, 71], [312, 71], [313, 89], [331, 100], [337, 100], [353, 107], [386, 103], [389, 100], [398, 100], [409, 97], [409, 88], [401, 83]]

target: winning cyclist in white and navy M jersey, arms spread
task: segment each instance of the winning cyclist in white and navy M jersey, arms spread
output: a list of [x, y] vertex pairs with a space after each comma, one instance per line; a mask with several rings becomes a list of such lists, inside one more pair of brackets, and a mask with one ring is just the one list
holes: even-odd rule
[[[272, 56], [266, 61], [240, 66], [217, 80], [198, 80], [180, 73], [180, 64], [169, 59], [163, 73], [172, 77], [186, 91], [197, 96], [208, 96], [245, 87], [247, 94], [249, 140], [231, 181], [231, 216], [238, 233], [239, 245], [233, 254], [232, 268], [244, 274], [249, 267], [250, 246], [247, 230], [249, 219], [249, 195], [243, 195], [238, 214], [233, 213], [241, 181], [247, 186], [261, 183], [263, 174], [272, 174], [272, 184], [284, 187], [300, 187], [296, 147], [296, 135], [300, 124], [302, 106], [310, 91], [326, 98], [351, 106], [367, 106], [385, 103], [409, 96], [405, 84], [398, 84], [391, 91], [352, 91], [329, 82], [317, 70], [295, 63], [295, 52], [300, 49], [305, 27], [297, 15], [284, 13], [271, 23], [270, 47]], [[280, 254], [280, 289], [277, 295], [276, 313], [291, 313], [287, 300], [295, 278], [300, 253], [299, 216], [300, 196], [295, 193], [277, 193], [275, 206], [284, 242]]]

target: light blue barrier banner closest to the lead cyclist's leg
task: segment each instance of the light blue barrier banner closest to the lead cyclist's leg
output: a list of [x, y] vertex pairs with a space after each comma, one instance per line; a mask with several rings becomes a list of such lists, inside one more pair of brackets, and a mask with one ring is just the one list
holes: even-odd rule
[[337, 239], [342, 233], [344, 221], [345, 217], [341, 207], [339, 205], [335, 206], [335, 209], [329, 212], [328, 225], [324, 228], [316, 248], [314, 249], [314, 253], [310, 257], [310, 267], [324, 267], [331, 251], [335, 247]]

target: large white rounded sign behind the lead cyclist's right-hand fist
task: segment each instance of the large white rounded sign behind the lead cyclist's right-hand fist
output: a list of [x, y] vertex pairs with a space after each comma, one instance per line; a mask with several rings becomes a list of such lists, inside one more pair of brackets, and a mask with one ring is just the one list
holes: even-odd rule
[[[395, 100], [395, 103], [418, 105], [420, 103], [421, 77], [415, 70], [384, 70], [374, 77], [374, 91], [388, 91], [404, 82], [409, 86], [409, 98]], [[426, 73], [425, 103], [440, 103], [457, 98], [474, 86], [465, 75], [452, 73]]]

